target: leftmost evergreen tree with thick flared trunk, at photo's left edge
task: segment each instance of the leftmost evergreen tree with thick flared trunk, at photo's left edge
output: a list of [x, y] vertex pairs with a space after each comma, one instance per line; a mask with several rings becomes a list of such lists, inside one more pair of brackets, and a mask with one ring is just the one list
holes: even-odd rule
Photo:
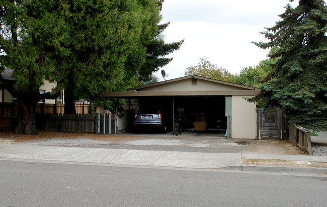
[[35, 109], [44, 98], [53, 94], [40, 94], [39, 87], [45, 78], [54, 81], [55, 56], [68, 55], [58, 44], [67, 38], [67, 27], [60, 18], [58, 5], [48, 1], [4, 0], [0, 3], [0, 71], [14, 69], [13, 78], [7, 81], [0, 75], [0, 89], [7, 89], [20, 105], [16, 133], [35, 134]]

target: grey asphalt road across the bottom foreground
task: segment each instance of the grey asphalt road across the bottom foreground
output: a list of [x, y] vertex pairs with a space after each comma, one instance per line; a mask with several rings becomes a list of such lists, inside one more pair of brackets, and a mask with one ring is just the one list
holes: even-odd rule
[[0, 160], [0, 206], [326, 206], [326, 176]]

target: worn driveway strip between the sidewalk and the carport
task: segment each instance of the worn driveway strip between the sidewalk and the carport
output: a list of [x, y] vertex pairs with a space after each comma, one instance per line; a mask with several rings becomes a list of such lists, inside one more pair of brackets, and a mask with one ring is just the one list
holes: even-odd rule
[[176, 136], [166, 134], [100, 135], [90, 133], [59, 133], [41, 131], [38, 135], [0, 134], [0, 142], [65, 147], [91, 147], [133, 150], [167, 150], [204, 153], [260, 153], [260, 154], [305, 154], [287, 141], [226, 139], [224, 132], [183, 132]]

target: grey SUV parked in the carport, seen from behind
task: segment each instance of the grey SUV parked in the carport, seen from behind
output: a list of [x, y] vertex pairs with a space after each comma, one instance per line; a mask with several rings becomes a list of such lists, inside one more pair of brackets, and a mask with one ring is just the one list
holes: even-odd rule
[[158, 129], [161, 133], [166, 133], [166, 124], [158, 107], [142, 107], [137, 111], [134, 131], [138, 132], [140, 129]]

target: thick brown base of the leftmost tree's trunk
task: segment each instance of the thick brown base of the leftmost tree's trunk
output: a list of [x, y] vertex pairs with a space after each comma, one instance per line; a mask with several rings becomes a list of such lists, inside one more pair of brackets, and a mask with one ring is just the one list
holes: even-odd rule
[[27, 110], [27, 107], [20, 106], [18, 110], [18, 123], [15, 129], [15, 134], [32, 135], [37, 134], [35, 110]]

